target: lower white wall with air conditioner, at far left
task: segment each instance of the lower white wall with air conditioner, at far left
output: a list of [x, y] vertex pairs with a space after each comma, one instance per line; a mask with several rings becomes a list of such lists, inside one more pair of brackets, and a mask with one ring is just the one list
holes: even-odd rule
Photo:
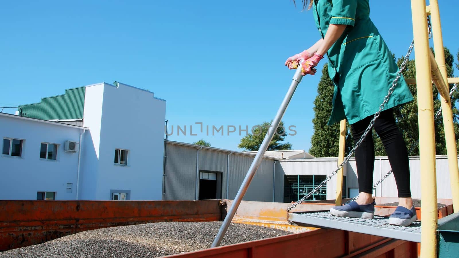
[[[23, 139], [22, 157], [0, 156], [0, 199], [36, 200], [37, 191], [56, 193], [56, 200], [75, 200], [78, 152], [64, 151], [66, 140], [79, 141], [83, 129], [0, 116], [3, 138]], [[40, 159], [41, 142], [58, 144], [57, 161]], [[67, 183], [73, 184], [67, 193]]]

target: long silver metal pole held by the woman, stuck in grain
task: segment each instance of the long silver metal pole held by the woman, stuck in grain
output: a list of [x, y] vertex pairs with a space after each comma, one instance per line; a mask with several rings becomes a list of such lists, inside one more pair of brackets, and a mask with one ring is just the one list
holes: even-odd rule
[[257, 155], [253, 159], [252, 165], [250, 165], [250, 168], [247, 171], [244, 181], [242, 181], [242, 185], [239, 188], [239, 191], [237, 192], [234, 201], [231, 203], [231, 207], [229, 208], [228, 214], [226, 215], [223, 221], [223, 224], [220, 227], [220, 230], [218, 230], [217, 236], [215, 237], [212, 243], [212, 247], [218, 247], [220, 245], [223, 239], [223, 236], [226, 233], [226, 230], [228, 230], [229, 223], [231, 223], [231, 220], [233, 219], [236, 213], [236, 210], [242, 201], [242, 197], [244, 197], [244, 195], [246, 194], [246, 191], [249, 188], [250, 182], [252, 181], [253, 176], [255, 175], [255, 172], [257, 171], [257, 168], [260, 166], [260, 163], [263, 160], [264, 153], [268, 149], [269, 143], [273, 139], [274, 133], [276, 132], [277, 127], [279, 126], [280, 120], [282, 120], [285, 110], [287, 109], [288, 104], [290, 103], [291, 97], [293, 96], [293, 93], [297, 89], [297, 86], [300, 83], [302, 77], [303, 76], [301, 75], [301, 66], [298, 66], [297, 71], [295, 72], [295, 75], [293, 75], [293, 79], [290, 84], [290, 88], [288, 89], [287, 94], [285, 95], [284, 100], [282, 101], [282, 104], [280, 104], [279, 110], [277, 111], [277, 114], [274, 117], [273, 122], [271, 123], [271, 127], [268, 129], [266, 136], [264, 136], [263, 142], [260, 148], [258, 149]]

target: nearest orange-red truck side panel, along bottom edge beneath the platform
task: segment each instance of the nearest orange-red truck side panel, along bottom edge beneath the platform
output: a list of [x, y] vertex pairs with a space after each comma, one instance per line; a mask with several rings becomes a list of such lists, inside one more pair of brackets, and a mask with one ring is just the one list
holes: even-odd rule
[[[368, 239], [370, 237], [370, 239]], [[417, 257], [416, 243], [343, 230], [308, 232], [170, 255], [170, 258]]]

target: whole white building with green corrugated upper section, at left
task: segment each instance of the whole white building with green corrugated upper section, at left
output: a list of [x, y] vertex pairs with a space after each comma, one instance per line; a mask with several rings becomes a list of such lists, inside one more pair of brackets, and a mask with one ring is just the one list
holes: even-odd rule
[[[56, 200], [160, 200], [165, 112], [166, 101], [153, 92], [115, 82], [20, 106], [22, 116], [1, 113], [0, 199], [46, 191]], [[67, 140], [79, 151], [64, 151]], [[52, 151], [41, 158], [42, 143], [57, 158]]]

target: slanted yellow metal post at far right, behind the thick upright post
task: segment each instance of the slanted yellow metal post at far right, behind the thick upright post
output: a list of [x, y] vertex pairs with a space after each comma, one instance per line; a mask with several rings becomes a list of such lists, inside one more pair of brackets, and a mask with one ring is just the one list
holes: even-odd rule
[[[432, 35], [433, 44], [435, 47], [435, 60], [437, 61], [442, 79], [448, 81], [446, 71], [445, 55], [443, 52], [442, 25], [440, 23], [440, 11], [438, 10], [438, 1], [430, 0], [431, 20], [432, 20]], [[453, 112], [451, 111], [451, 101], [442, 101], [443, 126], [445, 128], [446, 151], [448, 153], [448, 168], [451, 184], [451, 192], [453, 196], [453, 209], [459, 211], [459, 168], [457, 160], [456, 136], [454, 135]], [[449, 96], [448, 96], [449, 100]]]

